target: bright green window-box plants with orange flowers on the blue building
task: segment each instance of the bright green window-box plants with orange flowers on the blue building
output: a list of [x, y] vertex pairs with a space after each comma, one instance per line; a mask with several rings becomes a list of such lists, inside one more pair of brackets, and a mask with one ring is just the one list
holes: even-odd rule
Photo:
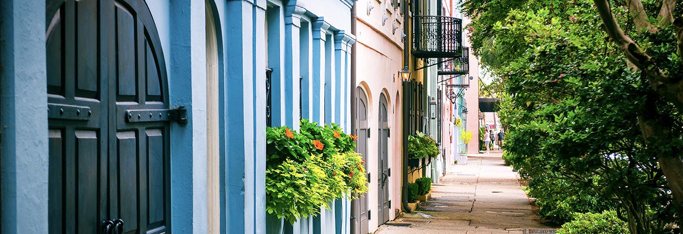
[[266, 211], [294, 224], [320, 214], [334, 199], [367, 192], [365, 161], [354, 152], [357, 136], [336, 124], [301, 120], [300, 132], [266, 129]]

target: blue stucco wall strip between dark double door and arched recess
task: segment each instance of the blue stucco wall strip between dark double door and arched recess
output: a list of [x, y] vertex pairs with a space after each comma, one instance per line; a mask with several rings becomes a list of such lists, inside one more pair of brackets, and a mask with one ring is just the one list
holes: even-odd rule
[[206, 23], [204, 1], [148, 1], [167, 58], [171, 106], [189, 109], [171, 124], [171, 231], [206, 233]]

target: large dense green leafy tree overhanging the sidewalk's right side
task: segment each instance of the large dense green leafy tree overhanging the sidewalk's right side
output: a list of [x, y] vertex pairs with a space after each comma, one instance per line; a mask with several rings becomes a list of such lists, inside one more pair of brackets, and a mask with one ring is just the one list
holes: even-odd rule
[[[538, 192], [545, 186], [561, 188], [561, 196], [589, 194], [576, 196], [581, 201], [574, 205], [614, 207], [631, 233], [680, 225], [675, 183], [663, 173], [660, 158], [680, 152], [683, 117], [643, 80], [645, 70], [626, 66], [628, 55], [606, 40], [596, 9], [588, 1], [482, 0], [464, 7], [473, 18], [475, 55], [486, 58], [482, 63], [501, 78], [498, 88], [507, 95], [501, 116], [510, 126], [507, 151], [531, 179], [531, 192], [558, 196]], [[626, 21], [630, 16], [626, 8], [611, 14]], [[650, 48], [673, 44], [670, 37], [642, 35]], [[680, 58], [669, 57], [658, 59]], [[678, 71], [680, 65], [667, 68]], [[669, 124], [671, 138], [652, 141], [640, 127], [641, 115], [652, 115], [652, 108], [658, 121]], [[611, 202], [591, 203], [595, 198]]]

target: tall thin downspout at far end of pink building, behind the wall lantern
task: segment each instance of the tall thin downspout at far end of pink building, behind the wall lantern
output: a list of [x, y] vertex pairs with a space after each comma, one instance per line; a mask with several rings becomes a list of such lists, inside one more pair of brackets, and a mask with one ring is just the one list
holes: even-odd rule
[[[410, 32], [410, 28], [408, 27], [408, 8], [410, 5], [408, 5], [408, 0], [403, 0], [402, 7], [403, 7], [403, 33], [406, 35], [405, 38], [403, 39], [403, 63], [405, 67], [408, 67], [408, 59], [410, 59], [410, 36], [408, 33]], [[353, 29], [353, 28], [352, 28]], [[353, 63], [352, 63], [353, 64]], [[408, 117], [408, 102], [413, 100], [413, 98], [408, 98], [406, 97], [406, 94], [410, 93], [409, 91], [406, 92], [406, 85], [409, 85], [408, 82], [403, 81], [403, 78], [401, 77], [402, 85], [403, 85], [403, 104], [402, 108], [403, 110], [401, 111], [403, 115], [403, 130], [402, 130], [402, 135], [403, 135], [403, 173], [401, 173], [401, 176], [403, 177], [403, 181], [401, 183], [401, 200], [403, 203], [403, 209], [410, 213], [413, 212], [413, 209], [410, 209], [410, 206], [408, 206], [408, 134], [406, 132], [408, 131], [408, 128], [410, 128], [410, 123], [408, 123], [410, 117]]]

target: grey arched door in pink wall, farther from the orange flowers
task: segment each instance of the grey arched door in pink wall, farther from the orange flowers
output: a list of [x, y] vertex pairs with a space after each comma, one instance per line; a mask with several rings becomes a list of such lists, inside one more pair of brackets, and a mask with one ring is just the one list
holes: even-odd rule
[[389, 221], [389, 113], [387, 97], [380, 94], [377, 137], [377, 222], [381, 225]]

